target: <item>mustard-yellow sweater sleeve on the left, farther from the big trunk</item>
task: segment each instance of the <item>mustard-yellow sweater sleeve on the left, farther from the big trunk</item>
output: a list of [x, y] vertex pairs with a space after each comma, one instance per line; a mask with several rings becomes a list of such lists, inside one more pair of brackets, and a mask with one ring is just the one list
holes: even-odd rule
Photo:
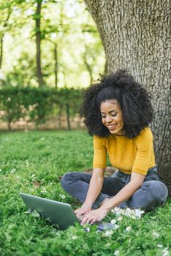
[[103, 138], [94, 135], [94, 168], [105, 168], [107, 162], [107, 150]]

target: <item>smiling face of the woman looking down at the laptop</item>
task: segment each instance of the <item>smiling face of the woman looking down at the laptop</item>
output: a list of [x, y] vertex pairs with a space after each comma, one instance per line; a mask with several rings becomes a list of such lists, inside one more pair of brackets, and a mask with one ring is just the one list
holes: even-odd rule
[[124, 135], [123, 118], [120, 105], [117, 100], [109, 99], [101, 103], [100, 106], [102, 124], [104, 124], [113, 135]]

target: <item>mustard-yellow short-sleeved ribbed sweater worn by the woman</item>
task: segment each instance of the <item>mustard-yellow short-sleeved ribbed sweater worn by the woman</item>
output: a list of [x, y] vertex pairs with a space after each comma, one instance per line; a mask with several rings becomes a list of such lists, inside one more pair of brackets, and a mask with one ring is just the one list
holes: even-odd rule
[[155, 165], [151, 129], [142, 129], [140, 135], [133, 139], [117, 135], [99, 138], [94, 135], [94, 168], [106, 167], [107, 154], [111, 165], [123, 173], [145, 175]]

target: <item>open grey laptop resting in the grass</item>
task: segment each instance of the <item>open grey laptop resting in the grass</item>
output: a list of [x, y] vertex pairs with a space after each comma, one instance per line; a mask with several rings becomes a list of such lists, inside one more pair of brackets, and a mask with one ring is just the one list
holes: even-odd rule
[[[58, 225], [61, 230], [66, 230], [69, 226], [80, 223], [69, 203], [61, 203], [22, 192], [20, 192], [20, 197], [30, 213], [37, 211], [41, 217]], [[94, 224], [97, 225], [98, 230], [112, 229], [114, 227], [110, 222], [95, 222]]]

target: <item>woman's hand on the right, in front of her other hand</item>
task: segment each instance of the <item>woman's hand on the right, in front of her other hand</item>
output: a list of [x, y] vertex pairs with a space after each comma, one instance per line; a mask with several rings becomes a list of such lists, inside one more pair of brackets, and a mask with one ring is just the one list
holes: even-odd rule
[[93, 211], [89, 211], [81, 220], [81, 224], [93, 224], [94, 222], [99, 222], [107, 215], [107, 210], [105, 208], [99, 208]]

